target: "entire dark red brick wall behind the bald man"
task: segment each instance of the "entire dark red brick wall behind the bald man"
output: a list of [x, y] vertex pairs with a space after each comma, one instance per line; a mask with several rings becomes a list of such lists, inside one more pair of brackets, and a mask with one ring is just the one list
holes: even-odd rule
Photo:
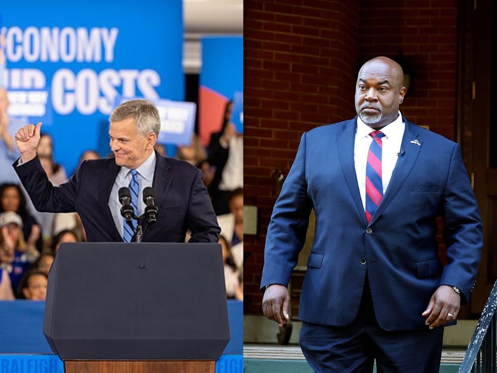
[[245, 312], [261, 312], [265, 232], [304, 131], [355, 115], [358, 68], [402, 49], [414, 65], [401, 106], [417, 124], [454, 138], [456, 0], [248, 0], [244, 23], [245, 204], [258, 206], [246, 235]]

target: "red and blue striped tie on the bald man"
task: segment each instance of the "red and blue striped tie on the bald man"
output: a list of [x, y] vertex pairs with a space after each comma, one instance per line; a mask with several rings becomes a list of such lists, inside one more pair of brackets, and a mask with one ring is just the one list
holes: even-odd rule
[[385, 134], [373, 131], [369, 134], [373, 138], [368, 152], [366, 164], [366, 219], [369, 222], [383, 197], [383, 184], [381, 181], [381, 138]]

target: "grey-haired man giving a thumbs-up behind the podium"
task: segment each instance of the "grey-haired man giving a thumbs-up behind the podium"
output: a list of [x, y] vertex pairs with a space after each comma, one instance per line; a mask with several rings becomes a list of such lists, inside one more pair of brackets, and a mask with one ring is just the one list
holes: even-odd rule
[[[218, 242], [220, 229], [200, 171], [154, 151], [160, 127], [159, 112], [151, 102], [122, 103], [110, 115], [115, 158], [85, 161], [67, 183], [53, 187], [36, 156], [41, 123], [30, 124], [15, 135], [21, 157], [13, 166], [36, 209], [78, 212], [88, 241], [135, 241], [121, 216], [118, 190], [129, 187], [139, 216], [146, 207], [143, 189], [153, 187], [159, 212], [143, 241], [184, 242], [190, 229], [189, 242]], [[145, 226], [145, 220], [142, 223]]]

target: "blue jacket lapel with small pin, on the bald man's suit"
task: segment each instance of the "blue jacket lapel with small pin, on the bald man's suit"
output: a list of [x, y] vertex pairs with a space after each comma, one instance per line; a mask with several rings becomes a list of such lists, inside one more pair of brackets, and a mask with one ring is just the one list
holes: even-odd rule
[[383, 213], [385, 208], [399, 191], [400, 187], [402, 187], [402, 184], [404, 184], [404, 181], [413, 169], [414, 163], [416, 162], [417, 156], [419, 154], [419, 150], [421, 149], [421, 141], [418, 141], [416, 144], [413, 144], [411, 142], [414, 140], [418, 140], [418, 127], [407, 121], [404, 117], [403, 120], [404, 123], [406, 123], [406, 128], [404, 130], [404, 136], [402, 138], [401, 150], [404, 150], [405, 153], [404, 155], [398, 157], [394, 171], [392, 172], [392, 178], [390, 179], [390, 183], [388, 183], [387, 190], [385, 191], [385, 195], [383, 196], [380, 204], [378, 205], [378, 208], [373, 214], [369, 225], [373, 224], [378, 216]]

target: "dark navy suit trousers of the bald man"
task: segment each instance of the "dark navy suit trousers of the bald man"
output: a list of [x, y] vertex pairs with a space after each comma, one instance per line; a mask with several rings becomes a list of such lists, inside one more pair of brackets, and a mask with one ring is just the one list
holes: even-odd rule
[[355, 321], [349, 326], [303, 322], [300, 346], [311, 368], [320, 373], [370, 373], [375, 359], [378, 373], [437, 373], [442, 337], [443, 328], [408, 331], [380, 328], [366, 276]]

